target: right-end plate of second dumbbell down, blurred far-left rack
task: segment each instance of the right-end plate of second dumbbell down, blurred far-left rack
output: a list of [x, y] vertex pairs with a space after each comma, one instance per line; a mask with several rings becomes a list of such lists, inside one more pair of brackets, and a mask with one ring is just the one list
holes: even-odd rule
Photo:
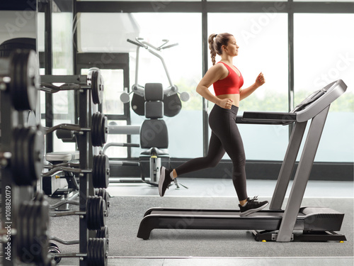
[[43, 170], [45, 139], [41, 131], [30, 131], [30, 176], [33, 181], [40, 179], [40, 174]]

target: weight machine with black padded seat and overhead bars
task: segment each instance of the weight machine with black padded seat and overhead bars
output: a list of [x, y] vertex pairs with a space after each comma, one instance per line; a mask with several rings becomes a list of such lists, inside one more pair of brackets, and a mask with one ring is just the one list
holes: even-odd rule
[[[144, 41], [143, 38], [135, 38], [135, 40], [127, 39], [127, 42], [137, 45], [135, 84], [132, 85], [132, 92], [129, 94], [123, 92], [120, 95], [120, 100], [124, 104], [130, 101], [132, 110], [135, 111], [137, 115], [147, 118], [140, 127], [140, 144], [130, 146], [146, 149], [140, 153], [139, 163], [135, 162], [135, 164], [138, 164], [141, 169], [142, 182], [152, 184], [156, 187], [159, 185], [161, 158], [167, 158], [170, 163], [169, 151], [167, 150], [167, 148], [169, 148], [169, 135], [163, 118], [164, 116], [176, 116], [181, 111], [181, 101], [188, 101], [189, 99], [187, 92], [178, 92], [178, 87], [171, 81], [164, 58], [159, 54], [161, 50], [172, 48], [178, 45], [178, 43], [167, 45], [169, 40], [162, 41], [163, 43], [159, 45], [159, 47], [155, 47], [151, 43]], [[147, 83], [144, 87], [139, 85], [140, 48], [145, 48], [148, 52], [161, 60], [166, 77], [169, 80], [169, 87], [164, 89], [161, 83]], [[132, 100], [130, 100], [130, 94], [133, 94]], [[116, 144], [117, 146], [121, 146], [121, 143]], [[109, 143], [109, 146], [115, 146], [115, 143]], [[144, 170], [142, 168], [142, 160], [147, 157], [149, 157], [149, 179], [144, 177]], [[118, 162], [115, 163], [115, 165], [132, 165], [132, 163], [134, 162]], [[178, 187], [177, 180], [175, 184]]]

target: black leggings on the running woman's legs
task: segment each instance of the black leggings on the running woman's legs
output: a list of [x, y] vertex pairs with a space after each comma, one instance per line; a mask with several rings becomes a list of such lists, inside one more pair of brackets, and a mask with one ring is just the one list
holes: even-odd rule
[[176, 168], [179, 175], [194, 172], [209, 167], [215, 167], [225, 154], [232, 160], [232, 181], [239, 200], [247, 199], [246, 171], [244, 144], [242, 143], [239, 128], [236, 125], [236, 116], [239, 107], [224, 109], [217, 104], [212, 108], [209, 116], [209, 126], [212, 129], [207, 157], [199, 157], [185, 162]]

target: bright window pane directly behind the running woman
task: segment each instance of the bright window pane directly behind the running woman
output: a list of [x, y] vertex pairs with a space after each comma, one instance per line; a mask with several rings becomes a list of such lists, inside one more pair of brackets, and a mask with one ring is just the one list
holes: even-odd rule
[[[234, 58], [234, 65], [244, 77], [242, 88], [253, 84], [259, 72], [265, 76], [265, 84], [241, 101], [239, 115], [244, 111], [287, 112], [287, 14], [210, 13], [208, 19], [209, 34], [229, 32], [236, 38], [239, 55]], [[220, 59], [217, 56], [216, 61]], [[214, 93], [212, 87], [210, 91]], [[247, 160], [284, 159], [287, 126], [239, 125], [239, 130]]]

